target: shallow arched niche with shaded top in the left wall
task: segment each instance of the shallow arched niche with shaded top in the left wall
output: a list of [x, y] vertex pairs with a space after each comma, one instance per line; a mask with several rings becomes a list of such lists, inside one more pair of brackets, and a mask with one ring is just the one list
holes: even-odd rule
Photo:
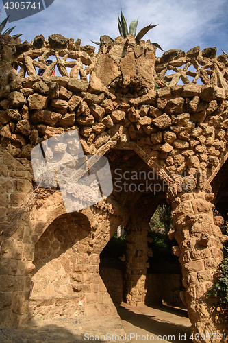
[[[88, 255], [90, 223], [81, 213], [53, 220], [35, 245], [30, 296], [31, 318], [84, 314], [84, 292], [90, 292], [83, 269], [96, 268]], [[90, 260], [90, 261], [89, 261]]]

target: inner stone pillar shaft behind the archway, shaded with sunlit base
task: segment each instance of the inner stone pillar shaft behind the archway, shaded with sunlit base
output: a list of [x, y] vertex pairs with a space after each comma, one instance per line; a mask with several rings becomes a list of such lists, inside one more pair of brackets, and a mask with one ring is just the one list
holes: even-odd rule
[[128, 305], [144, 305], [147, 289], [145, 289], [147, 268], [149, 268], [147, 234], [149, 224], [129, 222], [126, 244], [125, 300]]

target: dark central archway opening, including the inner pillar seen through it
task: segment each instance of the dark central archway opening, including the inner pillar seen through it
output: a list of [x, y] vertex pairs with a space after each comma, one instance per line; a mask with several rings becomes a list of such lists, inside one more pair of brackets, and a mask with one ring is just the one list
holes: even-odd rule
[[[170, 206], [166, 203], [168, 185], [157, 174], [157, 170], [150, 168], [133, 150], [112, 150], [107, 158], [114, 181], [112, 195], [118, 204], [127, 207], [131, 213], [129, 222], [133, 226], [138, 221], [142, 226], [149, 226], [151, 217], [157, 215], [158, 209], [168, 210], [166, 212], [171, 216]], [[107, 243], [100, 255], [100, 274], [116, 305], [121, 301], [148, 306], [162, 303], [175, 307], [183, 305], [180, 297], [181, 267], [178, 257], [172, 251], [172, 246], [177, 246], [177, 242], [170, 241], [167, 235], [172, 226], [170, 221], [166, 230], [163, 227], [159, 232], [160, 227], [153, 228], [151, 222], [148, 235], [145, 232], [140, 235], [131, 234], [131, 228], [128, 228], [127, 235], [125, 233], [123, 237], [117, 237], [115, 234]], [[167, 289], [164, 289], [165, 285]], [[142, 288], [146, 290], [145, 297]]]

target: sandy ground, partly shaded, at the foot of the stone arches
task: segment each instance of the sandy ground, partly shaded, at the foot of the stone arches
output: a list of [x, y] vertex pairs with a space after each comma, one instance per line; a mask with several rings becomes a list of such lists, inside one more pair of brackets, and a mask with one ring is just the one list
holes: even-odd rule
[[118, 307], [118, 314], [121, 320], [114, 317], [39, 320], [16, 331], [25, 343], [192, 342], [188, 339], [190, 321], [186, 310], [123, 305]]

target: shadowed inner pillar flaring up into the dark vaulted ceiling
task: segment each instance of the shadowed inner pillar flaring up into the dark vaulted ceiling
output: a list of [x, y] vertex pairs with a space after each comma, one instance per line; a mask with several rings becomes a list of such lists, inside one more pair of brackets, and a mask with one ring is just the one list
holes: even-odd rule
[[157, 172], [159, 168], [155, 169], [154, 165], [146, 163], [140, 152], [132, 149], [132, 145], [123, 145], [121, 149], [110, 150], [105, 156], [110, 161], [114, 182], [112, 195], [120, 206], [125, 206], [130, 213], [129, 221], [125, 226], [127, 231], [125, 301], [130, 305], [142, 305], [147, 293], [145, 289], [149, 267], [147, 259], [151, 253], [147, 246], [149, 220], [158, 202], [162, 198], [166, 199], [168, 184], [165, 182], [166, 178], [162, 178]]

